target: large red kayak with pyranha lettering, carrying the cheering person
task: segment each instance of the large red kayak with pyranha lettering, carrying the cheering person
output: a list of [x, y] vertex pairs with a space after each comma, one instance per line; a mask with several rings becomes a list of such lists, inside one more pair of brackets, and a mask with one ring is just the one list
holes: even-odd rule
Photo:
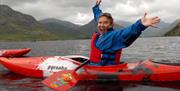
[[[0, 58], [0, 62], [15, 73], [45, 77], [61, 70], [75, 69], [87, 59], [83, 56], [53, 56]], [[114, 66], [85, 65], [76, 73], [79, 80], [180, 81], [180, 65], [162, 64], [152, 60]]]

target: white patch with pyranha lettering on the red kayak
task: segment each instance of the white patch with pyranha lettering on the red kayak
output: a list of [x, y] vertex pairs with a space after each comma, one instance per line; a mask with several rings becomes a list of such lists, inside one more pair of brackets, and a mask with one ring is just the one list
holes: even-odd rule
[[54, 72], [61, 70], [71, 70], [77, 67], [76, 64], [71, 61], [61, 59], [60, 57], [47, 58], [41, 64], [38, 65], [37, 69], [43, 71], [45, 77], [52, 75]]

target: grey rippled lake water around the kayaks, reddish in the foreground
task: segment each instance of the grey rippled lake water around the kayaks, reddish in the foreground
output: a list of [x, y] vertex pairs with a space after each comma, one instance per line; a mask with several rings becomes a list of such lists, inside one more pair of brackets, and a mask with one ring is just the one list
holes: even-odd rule
[[[27, 56], [88, 56], [89, 43], [90, 40], [0, 42], [0, 49], [29, 47], [32, 51]], [[139, 38], [122, 54], [126, 62], [148, 58], [180, 62], [180, 37]], [[14, 74], [0, 65], [0, 91], [52, 91], [41, 83], [42, 80]], [[83, 82], [72, 91], [180, 91], [180, 82]]]

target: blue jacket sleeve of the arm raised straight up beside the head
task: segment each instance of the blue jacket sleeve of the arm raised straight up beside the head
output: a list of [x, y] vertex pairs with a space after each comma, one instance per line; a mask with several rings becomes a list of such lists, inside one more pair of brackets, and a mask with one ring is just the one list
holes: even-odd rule
[[99, 16], [102, 14], [102, 10], [99, 8], [99, 5], [95, 5], [93, 7], [93, 14], [94, 14], [94, 19], [96, 23], [98, 22]]

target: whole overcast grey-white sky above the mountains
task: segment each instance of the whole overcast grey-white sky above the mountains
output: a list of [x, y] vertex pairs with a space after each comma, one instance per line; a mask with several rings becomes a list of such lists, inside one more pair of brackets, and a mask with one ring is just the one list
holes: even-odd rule
[[[75, 24], [87, 24], [93, 19], [96, 0], [0, 0], [0, 4], [32, 15], [36, 20], [56, 18]], [[180, 18], [180, 0], [102, 0], [100, 8], [115, 21], [135, 22], [145, 12], [172, 23]]]

